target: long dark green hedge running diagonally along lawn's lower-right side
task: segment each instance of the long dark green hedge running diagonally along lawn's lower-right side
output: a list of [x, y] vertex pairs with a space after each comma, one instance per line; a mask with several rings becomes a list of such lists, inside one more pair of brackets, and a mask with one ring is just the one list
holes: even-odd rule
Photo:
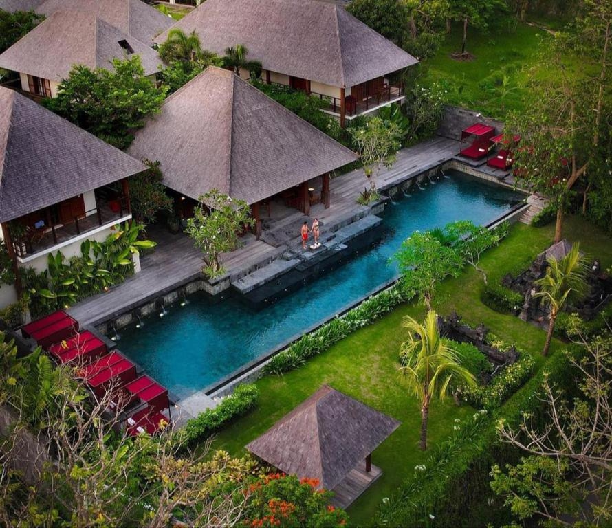
[[[519, 452], [499, 441], [496, 423], [504, 419], [518, 426], [523, 412], [532, 413], [535, 423], [545, 417], [542, 382], [571, 393], [576, 386], [573, 369], [564, 353], [551, 355], [543, 369], [493, 412], [481, 410], [468, 423], [455, 426], [451, 437], [441, 443], [426, 462], [415, 467], [393, 496], [383, 500], [373, 523], [376, 526], [457, 527], [457, 518], [470, 519], [470, 526], [503, 524], [507, 511], [489, 486], [493, 463], [512, 463]], [[488, 505], [487, 496], [494, 506]], [[487, 507], [483, 507], [487, 505]], [[479, 518], [474, 516], [478, 511]]]

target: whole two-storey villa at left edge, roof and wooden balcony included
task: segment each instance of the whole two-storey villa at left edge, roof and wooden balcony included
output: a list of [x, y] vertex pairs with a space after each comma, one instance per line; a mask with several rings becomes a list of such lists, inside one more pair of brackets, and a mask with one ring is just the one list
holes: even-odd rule
[[[40, 104], [0, 87], [0, 228], [16, 271], [80, 254], [131, 219], [127, 178], [146, 167]], [[19, 290], [4, 285], [0, 307]]]

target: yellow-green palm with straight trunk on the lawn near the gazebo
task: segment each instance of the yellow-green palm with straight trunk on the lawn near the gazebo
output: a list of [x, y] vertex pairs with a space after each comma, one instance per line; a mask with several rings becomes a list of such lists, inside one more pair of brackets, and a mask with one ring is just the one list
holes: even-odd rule
[[408, 329], [408, 341], [402, 344], [402, 366], [408, 386], [421, 402], [420, 448], [427, 449], [427, 419], [431, 399], [444, 399], [450, 382], [476, 384], [474, 375], [461, 366], [457, 352], [440, 336], [437, 315], [428, 311], [424, 324], [411, 317], [404, 318], [402, 326]]

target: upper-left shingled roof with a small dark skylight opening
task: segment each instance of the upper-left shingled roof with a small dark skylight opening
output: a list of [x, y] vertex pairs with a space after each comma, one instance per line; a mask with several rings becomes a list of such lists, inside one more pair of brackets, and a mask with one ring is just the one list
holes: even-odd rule
[[75, 64], [112, 69], [113, 58], [127, 56], [119, 45], [123, 40], [140, 55], [146, 75], [160, 71], [160, 57], [149, 45], [77, 11], [54, 12], [0, 55], [0, 67], [60, 82]]

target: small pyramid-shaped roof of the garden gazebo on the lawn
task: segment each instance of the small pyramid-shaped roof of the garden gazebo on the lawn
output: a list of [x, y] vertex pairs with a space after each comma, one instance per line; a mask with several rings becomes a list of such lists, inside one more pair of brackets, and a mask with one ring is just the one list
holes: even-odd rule
[[246, 448], [287, 474], [333, 489], [399, 426], [324, 385]]

